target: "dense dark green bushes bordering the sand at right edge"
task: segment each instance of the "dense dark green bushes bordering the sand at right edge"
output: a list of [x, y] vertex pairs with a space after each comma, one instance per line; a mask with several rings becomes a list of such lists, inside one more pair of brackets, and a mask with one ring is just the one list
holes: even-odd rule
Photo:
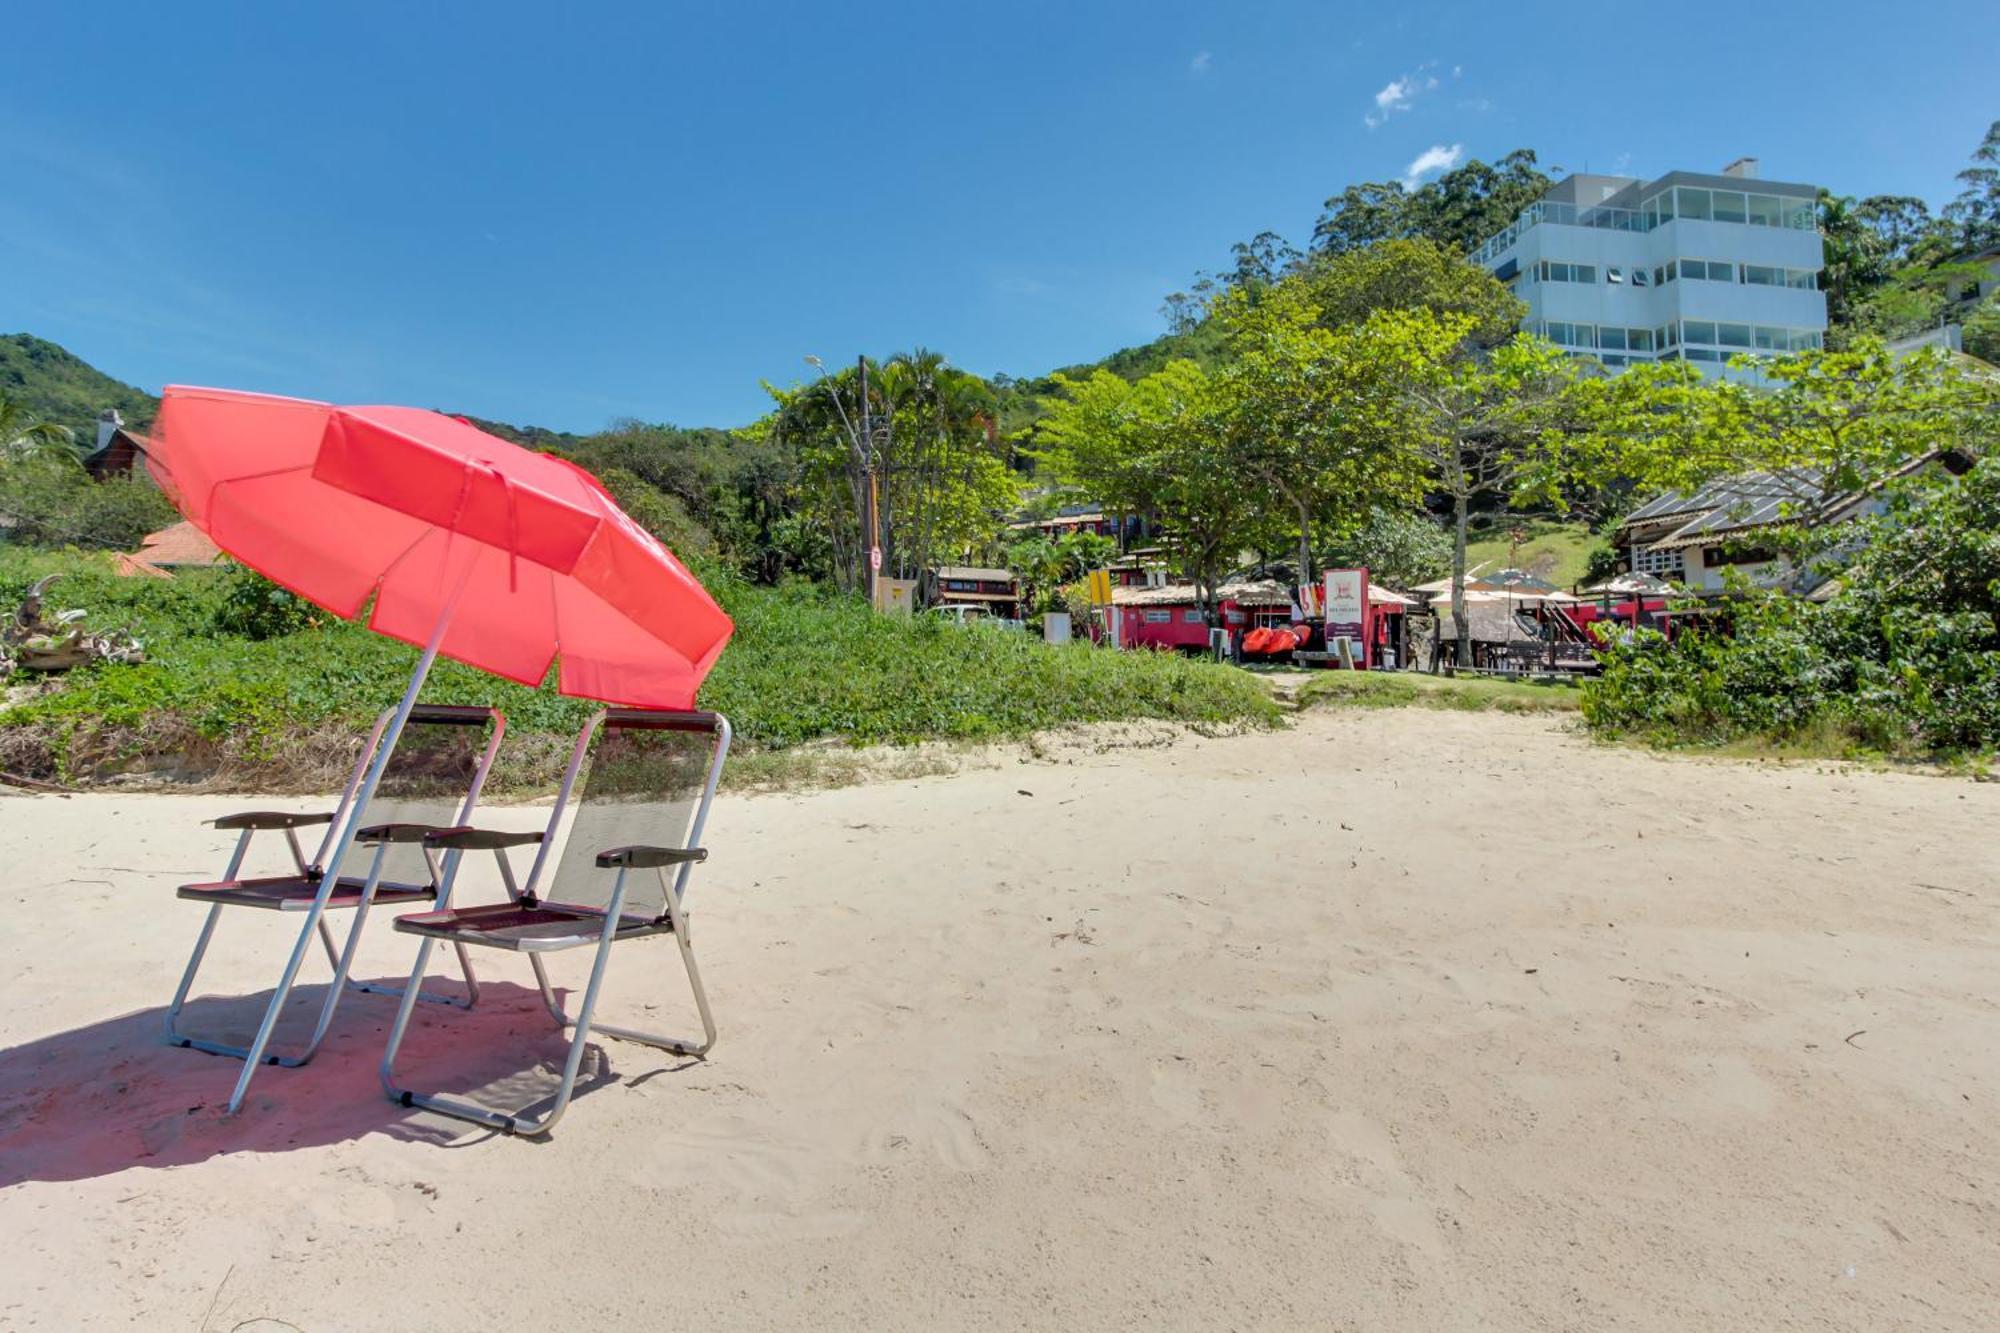
[[1932, 482], [1864, 528], [1862, 562], [1824, 604], [1746, 596], [1734, 634], [1612, 644], [1586, 721], [1666, 745], [2000, 749], [2000, 460]]

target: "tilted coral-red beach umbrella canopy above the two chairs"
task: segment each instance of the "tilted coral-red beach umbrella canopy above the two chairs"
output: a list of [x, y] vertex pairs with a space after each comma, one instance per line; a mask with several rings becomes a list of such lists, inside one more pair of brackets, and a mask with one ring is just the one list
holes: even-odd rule
[[170, 386], [150, 466], [226, 552], [522, 685], [688, 709], [732, 624], [582, 468], [440, 412]]

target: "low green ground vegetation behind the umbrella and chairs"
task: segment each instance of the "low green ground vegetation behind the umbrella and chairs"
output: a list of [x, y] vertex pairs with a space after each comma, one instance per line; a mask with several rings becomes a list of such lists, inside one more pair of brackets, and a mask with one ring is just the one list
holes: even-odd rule
[[[86, 666], [0, 711], [0, 769], [60, 783], [140, 773], [264, 791], [324, 789], [340, 745], [392, 705], [416, 650], [360, 624], [252, 638], [236, 628], [240, 570], [118, 578], [110, 558], [0, 548], [0, 606], [60, 572], [52, 606], [84, 606], [96, 628], [128, 626], [136, 666]], [[700, 703], [730, 715], [752, 753], [806, 743], [1000, 741], [1078, 723], [1160, 719], [1270, 725], [1278, 709], [1242, 673], [1164, 652], [1050, 646], [1028, 634], [872, 614], [810, 584], [712, 582], [736, 638]], [[30, 685], [20, 673], [0, 685]], [[496, 789], [532, 791], [560, 773], [564, 739], [596, 709], [438, 662], [424, 697], [490, 703], [508, 717]], [[804, 779], [830, 761], [790, 765]], [[754, 765], [752, 785], [786, 767]], [[838, 767], [838, 765], [836, 765]]]

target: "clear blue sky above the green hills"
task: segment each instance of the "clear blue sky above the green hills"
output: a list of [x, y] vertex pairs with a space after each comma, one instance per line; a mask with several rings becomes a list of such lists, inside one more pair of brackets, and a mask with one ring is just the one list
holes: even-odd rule
[[2000, 6], [16, 6], [0, 332], [592, 430], [740, 424], [802, 358], [1036, 374], [1232, 240], [1424, 162], [1942, 204]]

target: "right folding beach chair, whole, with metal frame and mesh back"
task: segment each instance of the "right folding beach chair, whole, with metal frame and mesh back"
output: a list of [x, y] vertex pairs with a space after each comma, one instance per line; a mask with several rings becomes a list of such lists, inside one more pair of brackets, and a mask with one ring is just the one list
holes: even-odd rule
[[[424, 943], [416, 953], [396, 1025], [390, 1029], [388, 1051], [382, 1055], [382, 1087], [390, 1101], [442, 1111], [514, 1135], [542, 1135], [556, 1127], [570, 1105], [576, 1071], [592, 1031], [680, 1055], [706, 1055], [714, 1047], [716, 1021], [708, 1013], [708, 993], [694, 965], [686, 897], [696, 863], [708, 859], [708, 851], [700, 845], [702, 827], [708, 823], [708, 807], [716, 797], [716, 781], [722, 777], [728, 753], [730, 723], [720, 713], [608, 709], [590, 719], [576, 739], [546, 833], [440, 829], [424, 839], [424, 847], [446, 855], [444, 893], [436, 911], [396, 919], [398, 931], [418, 935]], [[586, 761], [590, 781], [574, 803], [576, 817], [562, 859], [550, 873], [550, 845], [564, 811], [572, 805], [576, 777]], [[534, 867], [526, 887], [516, 889], [506, 849], [528, 843], [538, 845]], [[466, 853], [476, 851], [492, 851], [500, 859], [512, 901], [486, 907], [450, 905], [458, 865]], [[702, 1017], [704, 1037], [698, 1043], [592, 1023], [612, 945], [652, 935], [672, 935], [680, 945], [694, 1007]], [[438, 941], [526, 953], [542, 991], [542, 1005], [558, 1027], [576, 1029], [554, 1103], [540, 1119], [526, 1111], [490, 1111], [472, 1101], [412, 1093], [396, 1085], [396, 1051], [416, 1009], [416, 983]], [[596, 945], [596, 959], [590, 965], [582, 1007], [572, 1019], [548, 985], [542, 955], [590, 945]]]

